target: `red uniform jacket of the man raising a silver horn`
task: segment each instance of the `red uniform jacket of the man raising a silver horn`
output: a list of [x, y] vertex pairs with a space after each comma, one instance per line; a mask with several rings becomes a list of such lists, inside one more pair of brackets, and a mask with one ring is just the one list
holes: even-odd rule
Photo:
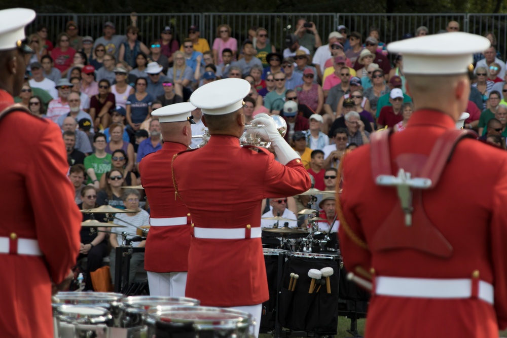
[[[301, 160], [281, 165], [267, 151], [240, 147], [233, 136], [211, 136], [203, 148], [178, 155], [173, 166], [179, 195], [200, 228], [260, 227], [263, 198], [293, 196], [311, 186]], [[261, 239], [192, 237], [186, 296], [219, 307], [267, 301]]]

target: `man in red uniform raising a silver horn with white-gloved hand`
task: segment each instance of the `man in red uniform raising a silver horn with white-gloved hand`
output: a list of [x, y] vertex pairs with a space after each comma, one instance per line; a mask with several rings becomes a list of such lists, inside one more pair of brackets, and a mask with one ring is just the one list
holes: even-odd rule
[[191, 102], [202, 109], [211, 137], [203, 148], [173, 160], [178, 198], [193, 222], [186, 295], [204, 306], [257, 306], [269, 298], [262, 199], [293, 196], [311, 185], [299, 156], [271, 119], [256, 119], [266, 127], [254, 132], [271, 140], [280, 162], [265, 149], [240, 146], [242, 100], [248, 91], [241, 79], [212, 82], [195, 91]]

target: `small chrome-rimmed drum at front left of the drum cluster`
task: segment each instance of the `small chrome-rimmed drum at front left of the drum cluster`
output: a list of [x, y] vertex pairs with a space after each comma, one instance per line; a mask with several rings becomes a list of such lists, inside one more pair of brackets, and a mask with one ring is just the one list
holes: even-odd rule
[[56, 313], [61, 338], [106, 338], [107, 323], [113, 318], [104, 308], [84, 305], [60, 305]]

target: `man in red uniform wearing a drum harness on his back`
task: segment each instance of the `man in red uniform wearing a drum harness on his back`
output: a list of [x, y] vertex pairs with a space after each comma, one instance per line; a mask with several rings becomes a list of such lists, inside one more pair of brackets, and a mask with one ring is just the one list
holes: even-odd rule
[[[389, 138], [387, 163], [394, 176], [410, 166], [403, 164], [403, 156], [422, 164], [421, 156], [428, 156], [437, 138], [455, 128], [466, 107], [466, 66], [472, 53], [489, 43], [477, 35], [456, 34], [389, 46], [404, 55], [416, 104], [406, 130]], [[345, 220], [340, 220], [339, 231], [347, 270], [358, 277], [365, 271], [373, 275], [366, 337], [498, 337], [498, 327], [507, 326], [507, 154], [473, 139], [461, 140], [450, 161], [444, 158], [438, 183], [427, 190], [412, 189], [408, 225], [396, 187], [377, 185], [373, 179], [380, 165], [375, 161], [378, 166], [372, 169], [372, 161], [386, 152], [371, 149], [361, 146], [343, 160]], [[422, 165], [408, 171], [418, 167]], [[391, 231], [386, 234], [388, 223]], [[414, 231], [422, 236], [408, 236]], [[440, 235], [425, 241], [430, 233]]]

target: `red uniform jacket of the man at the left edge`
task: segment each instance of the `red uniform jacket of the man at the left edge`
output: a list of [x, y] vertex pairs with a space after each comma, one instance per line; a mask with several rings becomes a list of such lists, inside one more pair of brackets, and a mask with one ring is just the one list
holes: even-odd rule
[[[3, 110], [12, 96], [0, 91]], [[82, 215], [58, 125], [25, 112], [0, 120], [0, 236], [37, 239], [43, 256], [0, 253], [0, 335], [53, 337], [51, 281], [76, 262]]]

